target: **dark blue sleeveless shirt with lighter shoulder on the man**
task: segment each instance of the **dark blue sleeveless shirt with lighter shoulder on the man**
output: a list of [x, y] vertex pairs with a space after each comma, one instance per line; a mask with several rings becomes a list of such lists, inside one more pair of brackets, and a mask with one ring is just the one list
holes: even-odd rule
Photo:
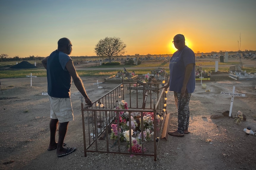
[[70, 98], [72, 77], [66, 69], [66, 64], [72, 60], [70, 56], [53, 51], [47, 59], [48, 95], [56, 98]]

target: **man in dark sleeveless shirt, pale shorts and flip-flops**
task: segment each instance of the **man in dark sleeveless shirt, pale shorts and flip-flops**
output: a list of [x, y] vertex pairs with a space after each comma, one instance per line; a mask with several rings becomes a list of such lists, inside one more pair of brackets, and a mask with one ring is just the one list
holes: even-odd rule
[[[58, 157], [66, 156], [76, 150], [75, 147], [64, 148], [69, 121], [74, 119], [70, 99], [70, 87], [73, 82], [85, 98], [86, 105], [91, 107], [92, 101], [87, 96], [83, 81], [78, 76], [69, 54], [72, 52], [72, 43], [68, 38], [58, 41], [58, 49], [42, 60], [47, 70], [48, 97], [50, 101], [50, 144], [48, 150], [56, 149]], [[56, 143], [55, 135], [59, 122], [59, 140]]]

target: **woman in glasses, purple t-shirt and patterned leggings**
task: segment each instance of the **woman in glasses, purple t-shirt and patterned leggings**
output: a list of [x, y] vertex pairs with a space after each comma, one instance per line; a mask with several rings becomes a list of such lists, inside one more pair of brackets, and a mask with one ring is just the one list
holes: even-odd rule
[[178, 50], [170, 59], [170, 78], [162, 88], [173, 91], [178, 109], [178, 128], [168, 134], [183, 137], [184, 133], [189, 133], [189, 100], [195, 90], [195, 53], [185, 45], [182, 34], [175, 35], [173, 43]]

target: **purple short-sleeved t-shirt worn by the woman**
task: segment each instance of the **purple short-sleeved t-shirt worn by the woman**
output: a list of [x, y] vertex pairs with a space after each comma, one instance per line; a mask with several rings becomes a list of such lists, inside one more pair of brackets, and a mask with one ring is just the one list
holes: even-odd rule
[[193, 93], [195, 90], [195, 53], [185, 46], [181, 51], [176, 51], [169, 62], [170, 69], [170, 91], [181, 93], [185, 77], [185, 69], [188, 64], [194, 64], [192, 73], [187, 83], [187, 93]]

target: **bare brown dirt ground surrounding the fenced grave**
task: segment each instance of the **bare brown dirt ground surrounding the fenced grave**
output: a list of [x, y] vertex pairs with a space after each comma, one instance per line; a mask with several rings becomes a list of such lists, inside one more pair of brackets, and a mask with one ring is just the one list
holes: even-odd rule
[[[98, 89], [93, 83], [104, 82], [106, 77], [81, 77], [92, 101], [101, 97], [117, 83], [105, 82]], [[55, 151], [48, 151], [50, 108], [46, 77], [1, 79], [0, 92], [0, 169], [246, 169], [256, 168], [256, 137], [246, 135], [246, 127], [256, 132], [256, 89], [253, 80], [233, 80], [227, 73], [213, 74], [210, 81], [204, 81], [207, 88], [202, 89], [196, 81], [195, 93], [190, 101], [190, 134], [185, 137], [168, 136], [159, 141], [157, 161], [152, 156], [116, 155], [83, 152], [82, 118], [80, 94], [72, 84], [71, 98], [74, 121], [64, 140], [67, 147], [77, 150], [61, 158]], [[254, 82], [255, 83], [255, 82]], [[240, 125], [233, 118], [222, 113], [230, 109], [230, 95], [223, 92], [245, 94], [234, 97], [233, 116], [238, 111], [246, 115]], [[210, 90], [210, 92], [206, 92]], [[177, 128], [177, 111], [173, 93], [167, 93], [167, 113], [171, 116], [170, 129]], [[211, 119], [218, 114], [218, 119]]]

